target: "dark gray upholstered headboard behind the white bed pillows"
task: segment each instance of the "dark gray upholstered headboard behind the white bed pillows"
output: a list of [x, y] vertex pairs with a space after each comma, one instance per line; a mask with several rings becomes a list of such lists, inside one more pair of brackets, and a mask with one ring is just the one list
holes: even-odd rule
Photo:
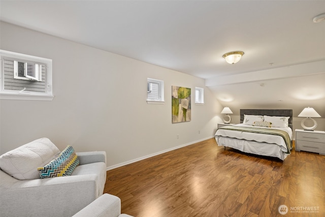
[[289, 127], [293, 129], [293, 110], [292, 109], [240, 109], [240, 123], [244, 121], [244, 114], [286, 116], [289, 118]]

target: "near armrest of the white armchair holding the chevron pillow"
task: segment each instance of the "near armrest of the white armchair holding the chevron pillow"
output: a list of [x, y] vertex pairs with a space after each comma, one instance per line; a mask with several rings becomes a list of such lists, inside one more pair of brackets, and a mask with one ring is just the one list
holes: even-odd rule
[[98, 198], [96, 174], [18, 180], [0, 170], [0, 215], [72, 216]]

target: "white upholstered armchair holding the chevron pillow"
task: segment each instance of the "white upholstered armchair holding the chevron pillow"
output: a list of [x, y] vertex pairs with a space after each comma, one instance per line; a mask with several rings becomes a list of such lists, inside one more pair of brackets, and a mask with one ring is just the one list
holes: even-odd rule
[[71, 176], [39, 178], [37, 168], [59, 153], [42, 138], [0, 156], [0, 216], [72, 216], [103, 195], [105, 151], [77, 152]]

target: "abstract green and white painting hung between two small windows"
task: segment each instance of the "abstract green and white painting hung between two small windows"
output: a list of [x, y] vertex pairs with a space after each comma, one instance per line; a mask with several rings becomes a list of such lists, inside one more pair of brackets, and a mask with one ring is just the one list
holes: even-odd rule
[[172, 86], [172, 123], [191, 120], [191, 88]]

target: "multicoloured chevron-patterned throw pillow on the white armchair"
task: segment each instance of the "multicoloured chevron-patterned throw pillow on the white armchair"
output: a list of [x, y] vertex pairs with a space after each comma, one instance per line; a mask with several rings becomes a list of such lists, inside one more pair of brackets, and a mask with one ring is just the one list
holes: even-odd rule
[[79, 165], [79, 159], [72, 146], [68, 145], [60, 155], [44, 167], [37, 168], [41, 178], [69, 176]]

